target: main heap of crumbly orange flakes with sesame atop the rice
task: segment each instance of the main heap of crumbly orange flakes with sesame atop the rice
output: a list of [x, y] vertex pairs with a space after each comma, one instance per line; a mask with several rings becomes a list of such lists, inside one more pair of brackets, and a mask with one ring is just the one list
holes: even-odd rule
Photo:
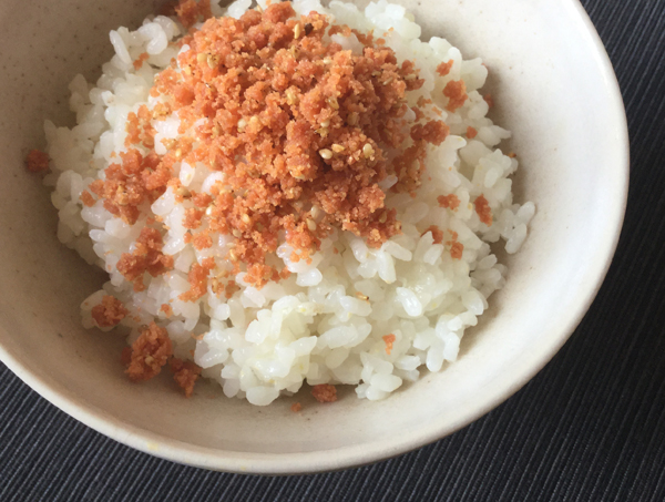
[[[185, 0], [176, 11], [188, 27], [209, 17], [209, 4]], [[324, 41], [346, 31], [355, 32], [316, 12], [297, 18], [288, 2], [239, 20], [208, 19], [181, 41], [191, 48], [178, 57], [182, 71], [156, 76], [151, 94], [163, 110], [141, 107], [129, 117], [127, 152], [91, 192], [132, 224], [146, 201], [177, 188], [176, 163], [222, 172], [209, 198], [190, 194], [201, 204], [185, 215], [187, 238], [203, 249], [216, 233], [232, 234], [234, 273], [245, 270], [257, 287], [279, 279], [266, 256], [280, 232], [294, 260], [308, 259], [332, 227], [380, 246], [401, 225], [378, 183], [396, 174], [391, 191], [413, 193], [427, 144], [440, 144], [449, 130], [442, 121], [405, 119], [407, 92], [423, 83], [412, 62], [398, 64], [371, 35], [357, 33], [361, 55]], [[156, 155], [151, 121], [173, 112], [181, 136]]]

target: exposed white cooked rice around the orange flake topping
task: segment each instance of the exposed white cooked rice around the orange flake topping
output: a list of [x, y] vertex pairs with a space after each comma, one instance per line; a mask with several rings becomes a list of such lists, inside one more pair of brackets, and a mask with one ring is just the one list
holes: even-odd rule
[[[211, 6], [214, 16], [234, 18], [249, 7], [250, 0], [237, 0], [227, 9]], [[184, 34], [183, 27], [171, 18], [151, 17], [136, 31], [111, 32], [115, 55], [102, 66], [95, 84], [81, 75], [73, 80], [70, 104], [78, 125], [45, 123], [52, 168], [45, 183], [54, 186], [58, 237], [110, 274], [103, 289], [82, 304], [89, 328], [94, 326], [92, 307], [111, 295], [130, 311], [122, 320], [130, 344], [141, 326], [156, 321], [166, 328], [174, 355], [203, 368], [203, 376], [223, 386], [227, 397], [265, 406], [307, 382], [352, 385], [359, 398], [383, 399], [405, 381], [417, 380], [421, 371], [439, 371], [446, 361], [456, 360], [464, 330], [477, 325], [490, 295], [504, 284], [507, 269], [490, 244], [502, 239], [505, 250], [515, 253], [535, 207], [513, 203], [509, 176], [518, 162], [497, 147], [510, 133], [487, 117], [489, 105], [479, 89], [488, 70], [479, 59], [464, 61], [458, 49], [440, 38], [420, 41], [421, 30], [412, 16], [386, 0], [370, 3], [365, 12], [339, 1], [324, 8], [318, 0], [295, 0], [293, 7], [298, 13], [316, 10], [337, 23], [383, 37], [398, 60], [413, 61], [426, 80], [412, 99], [432, 100], [450, 126], [441, 145], [429, 146], [427, 182], [417, 197], [387, 192], [386, 205], [397, 208], [401, 235], [380, 248], [369, 248], [351, 233], [334, 232], [309, 264], [290, 262], [291, 249], [282, 244], [277, 255], [293, 273], [289, 278], [257, 289], [241, 273], [235, 278], [239, 290], [231, 298], [216, 296], [208, 286], [198, 300], [183, 301], [178, 297], [190, 289], [192, 265], [226, 256], [229, 240], [222, 236], [202, 252], [186, 244], [184, 203], [177, 203], [170, 188], [152, 212], [168, 225], [164, 253], [173, 255], [174, 269], [154, 278], [146, 274], [145, 290], [135, 293], [115, 266], [123, 253], [133, 250], [144, 219], [127, 225], [101, 202], [88, 207], [80, 197], [112, 157], [124, 151], [127, 114], [146, 103], [154, 106], [149, 95], [154, 76], [178, 53], [175, 41]], [[355, 35], [334, 37], [342, 47], [358, 44]], [[149, 64], [136, 70], [133, 62], [145, 52]], [[448, 61], [452, 61], [450, 72], [441, 76], [436, 69]], [[460, 79], [468, 100], [454, 113], [447, 112], [442, 90]], [[177, 135], [178, 122], [173, 117], [154, 125], [160, 153], [161, 142]], [[469, 127], [477, 135], [462, 137]], [[205, 167], [188, 165], [180, 174], [183, 185], [200, 192], [211, 189], [214, 176]], [[391, 183], [389, 177], [382, 187]], [[459, 207], [442, 207], [441, 194], [454, 194]], [[493, 215], [490, 226], [472, 204], [481, 194]], [[427, 232], [431, 225], [457, 234], [461, 256], [451, 256], [448, 235], [434, 243], [432, 232]], [[163, 304], [171, 305], [173, 315], [161, 310]]]

